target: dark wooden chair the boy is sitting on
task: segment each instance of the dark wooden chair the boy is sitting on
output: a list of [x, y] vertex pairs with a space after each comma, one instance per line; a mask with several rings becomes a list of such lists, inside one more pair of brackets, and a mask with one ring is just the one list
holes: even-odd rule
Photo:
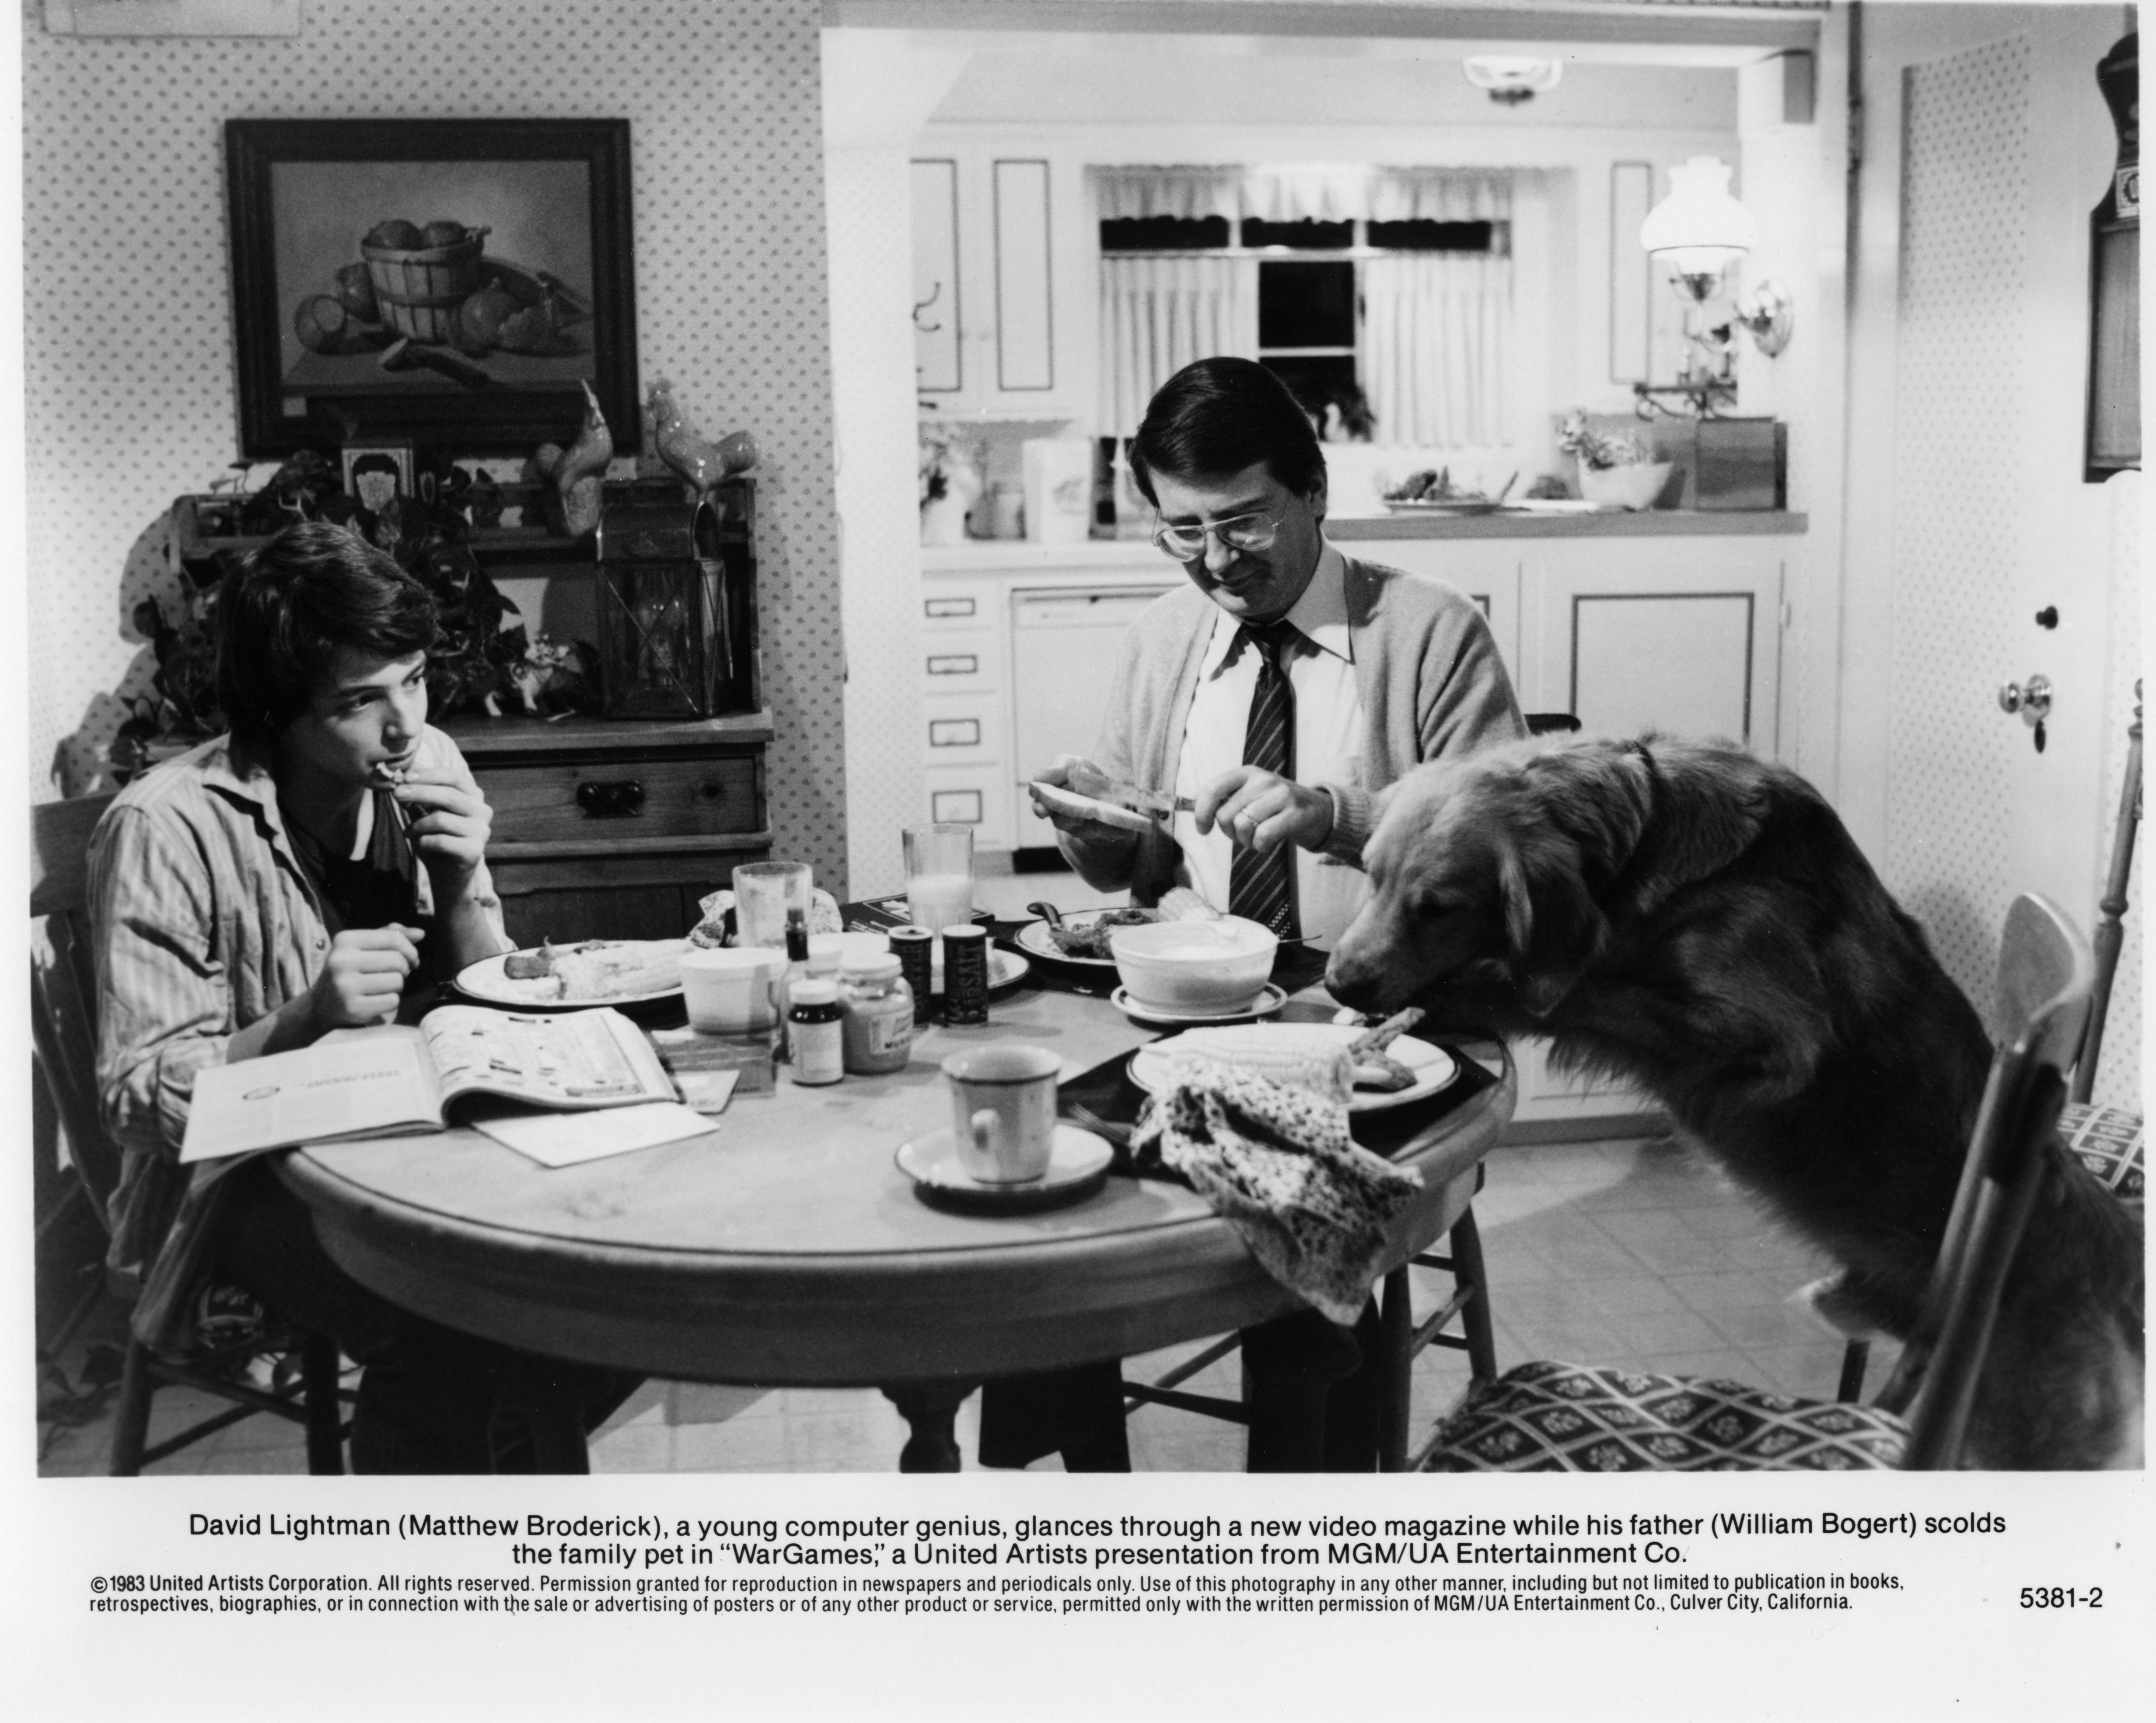
[[[37, 1080], [52, 1095], [67, 1132], [67, 1152], [97, 1216], [110, 1229], [112, 1193], [119, 1188], [121, 1149], [106, 1134], [97, 1106], [97, 962], [88, 927], [91, 832], [110, 807], [110, 796], [71, 802], [41, 802], [30, 809], [30, 919], [45, 921], [45, 938], [32, 938], [30, 955], [30, 1042]], [[121, 1298], [132, 1287], [114, 1285]], [[239, 1371], [250, 1359], [298, 1359], [295, 1380], [278, 1391], [257, 1389]], [[280, 1369], [278, 1376], [289, 1376]], [[274, 1376], [272, 1380], [278, 1380]], [[326, 1335], [291, 1328], [250, 1328], [239, 1337], [205, 1346], [185, 1359], [153, 1354], [129, 1335], [121, 1367], [121, 1397], [112, 1421], [110, 1471], [134, 1477], [205, 1436], [257, 1412], [306, 1428], [306, 1464], [313, 1473], [341, 1473], [343, 1412], [336, 1343]], [[151, 1400], [162, 1384], [201, 1389], [229, 1408], [149, 1443]]]

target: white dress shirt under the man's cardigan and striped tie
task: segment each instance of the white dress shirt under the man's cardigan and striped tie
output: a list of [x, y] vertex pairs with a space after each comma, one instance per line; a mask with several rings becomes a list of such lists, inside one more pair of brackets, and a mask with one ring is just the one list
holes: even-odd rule
[[[1326, 543], [1311, 584], [1287, 612], [1287, 621], [1304, 638], [1287, 664], [1287, 686], [1296, 694], [1294, 778], [1302, 785], [1363, 783], [1363, 694], [1354, 679], [1341, 574], [1341, 552]], [[1242, 623], [1227, 610], [1214, 617], [1199, 688], [1190, 699], [1190, 720], [1184, 727], [1184, 750], [1175, 763], [1177, 796], [1194, 800], [1222, 772], [1242, 766], [1250, 697], [1257, 692], [1257, 653], [1244, 649], [1231, 656], [1240, 632]], [[1218, 826], [1199, 837], [1197, 817], [1177, 813], [1175, 841], [1184, 847], [1190, 884], [1207, 904], [1225, 910], [1233, 839]], [[1363, 869], [1317, 850], [1296, 850], [1294, 880], [1302, 938], [1319, 945], [1345, 934], [1369, 897]]]

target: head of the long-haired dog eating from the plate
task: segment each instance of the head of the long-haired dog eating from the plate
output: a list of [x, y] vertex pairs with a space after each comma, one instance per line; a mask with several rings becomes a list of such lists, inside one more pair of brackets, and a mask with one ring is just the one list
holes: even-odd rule
[[1416, 768], [1380, 798], [1363, 852], [1371, 897], [1326, 985], [1382, 1011], [1498, 981], [1548, 1016], [1608, 938], [1600, 891], [1649, 807], [1649, 766], [1621, 742], [1522, 742]]

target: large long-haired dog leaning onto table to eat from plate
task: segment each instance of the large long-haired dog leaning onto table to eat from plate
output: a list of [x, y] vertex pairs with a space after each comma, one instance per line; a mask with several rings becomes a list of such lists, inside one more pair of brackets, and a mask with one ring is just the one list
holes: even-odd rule
[[[1910, 1333], [1992, 1044], [1809, 783], [1729, 746], [1514, 744], [1393, 785], [1363, 863], [1343, 1003], [1636, 1085], [1841, 1264], [1833, 1313]], [[2059, 1154], [1975, 1464], [2139, 1464], [2141, 1274], [2141, 1221]]]

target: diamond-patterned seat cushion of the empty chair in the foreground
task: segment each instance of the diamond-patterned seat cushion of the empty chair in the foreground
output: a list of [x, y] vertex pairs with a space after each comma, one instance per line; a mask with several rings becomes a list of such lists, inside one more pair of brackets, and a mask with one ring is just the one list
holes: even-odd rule
[[1425, 1471], [1889, 1471], [1904, 1434], [1869, 1406], [1539, 1361], [1468, 1395]]

